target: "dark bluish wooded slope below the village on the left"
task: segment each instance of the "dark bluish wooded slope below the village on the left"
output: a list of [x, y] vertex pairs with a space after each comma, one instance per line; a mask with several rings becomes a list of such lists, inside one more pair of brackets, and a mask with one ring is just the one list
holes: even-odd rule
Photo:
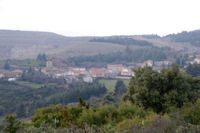
[[104, 95], [106, 91], [106, 88], [98, 83], [72, 82], [64, 85], [48, 83], [36, 89], [0, 80], [0, 116], [15, 113], [17, 117], [29, 117], [36, 108], [77, 102], [79, 95], [88, 100], [92, 96]]

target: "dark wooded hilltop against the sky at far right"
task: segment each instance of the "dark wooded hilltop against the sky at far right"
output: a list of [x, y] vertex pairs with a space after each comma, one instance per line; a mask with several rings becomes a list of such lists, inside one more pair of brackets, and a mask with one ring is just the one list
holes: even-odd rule
[[169, 37], [176, 42], [189, 42], [192, 45], [200, 46], [200, 31], [199, 30], [191, 31], [191, 32], [183, 31], [178, 34], [167, 35], [166, 37]]

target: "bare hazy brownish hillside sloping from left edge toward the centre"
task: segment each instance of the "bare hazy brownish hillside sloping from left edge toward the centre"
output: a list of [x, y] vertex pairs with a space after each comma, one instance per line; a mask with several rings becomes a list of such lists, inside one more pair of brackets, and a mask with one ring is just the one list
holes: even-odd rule
[[[91, 42], [94, 38], [66, 37], [51, 32], [0, 30], [0, 60], [35, 58], [39, 53], [62, 58], [88, 56], [123, 51], [126, 48], [121, 44]], [[142, 46], [142, 43], [138, 45]]]

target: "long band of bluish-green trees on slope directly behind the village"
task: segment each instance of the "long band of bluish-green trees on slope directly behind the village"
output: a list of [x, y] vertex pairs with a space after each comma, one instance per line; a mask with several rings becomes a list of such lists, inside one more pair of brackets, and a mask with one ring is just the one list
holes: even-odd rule
[[125, 52], [116, 52], [109, 54], [98, 54], [95, 56], [78, 56], [68, 58], [68, 62], [75, 63], [75, 65], [82, 65], [84, 63], [116, 63], [116, 62], [143, 62], [146, 60], [161, 61], [167, 58], [166, 51], [170, 49], [151, 47], [138, 50], [131, 50], [127, 47]]

